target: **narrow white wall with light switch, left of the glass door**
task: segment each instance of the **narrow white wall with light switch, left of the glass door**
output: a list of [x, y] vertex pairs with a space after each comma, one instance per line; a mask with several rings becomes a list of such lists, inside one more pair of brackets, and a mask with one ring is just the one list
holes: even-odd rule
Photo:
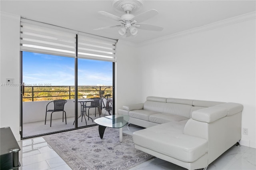
[[6, 78], [20, 83], [20, 16], [1, 12], [0, 25], [0, 127], [20, 140], [20, 86], [4, 85]]

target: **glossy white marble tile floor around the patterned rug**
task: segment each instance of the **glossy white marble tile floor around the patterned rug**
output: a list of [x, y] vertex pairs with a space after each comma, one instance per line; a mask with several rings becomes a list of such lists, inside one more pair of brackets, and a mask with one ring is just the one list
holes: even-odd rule
[[[123, 132], [132, 134], [142, 127], [130, 125]], [[28, 138], [18, 142], [21, 167], [19, 170], [71, 170], [42, 137]], [[212, 162], [207, 170], [256, 170], [256, 149], [246, 146], [232, 146], [218, 159]], [[130, 170], [186, 170], [180, 166], [153, 158]]]

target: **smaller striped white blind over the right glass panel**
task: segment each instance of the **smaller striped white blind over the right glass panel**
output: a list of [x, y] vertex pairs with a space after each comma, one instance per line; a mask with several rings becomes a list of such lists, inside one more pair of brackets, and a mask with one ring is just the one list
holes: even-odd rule
[[116, 61], [116, 42], [110, 38], [78, 33], [78, 58]]

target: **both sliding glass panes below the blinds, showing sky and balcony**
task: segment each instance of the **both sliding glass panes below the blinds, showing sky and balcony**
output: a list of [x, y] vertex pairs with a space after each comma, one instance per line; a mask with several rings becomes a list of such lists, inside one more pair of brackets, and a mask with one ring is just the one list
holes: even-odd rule
[[[22, 51], [21, 59], [22, 138], [75, 128], [75, 58]], [[95, 119], [112, 115], [113, 63], [78, 59], [77, 79], [78, 127], [95, 125]], [[46, 113], [58, 99], [67, 101], [66, 119], [62, 111]]]

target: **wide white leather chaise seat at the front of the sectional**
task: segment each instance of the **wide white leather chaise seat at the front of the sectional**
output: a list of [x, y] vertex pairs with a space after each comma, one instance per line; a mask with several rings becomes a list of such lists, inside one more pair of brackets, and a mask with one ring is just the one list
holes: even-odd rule
[[169, 122], [138, 130], [133, 133], [134, 143], [184, 162], [194, 162], [208, 152], [208, 142], [183, 134], [186, 122]]

